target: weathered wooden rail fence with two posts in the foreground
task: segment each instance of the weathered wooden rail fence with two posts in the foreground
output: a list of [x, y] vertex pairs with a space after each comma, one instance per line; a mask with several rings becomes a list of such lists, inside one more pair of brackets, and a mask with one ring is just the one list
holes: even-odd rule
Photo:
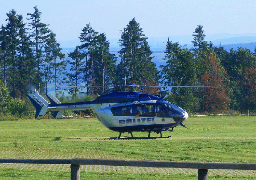
[[256, 170], [256, 163], [176, 162], [116, 159], [0, 159], [0, 163], [70, 164], [71, 180], [80, 180], [80, 165], [198, 169], [198, 180], [207, 180], [208, 169]]

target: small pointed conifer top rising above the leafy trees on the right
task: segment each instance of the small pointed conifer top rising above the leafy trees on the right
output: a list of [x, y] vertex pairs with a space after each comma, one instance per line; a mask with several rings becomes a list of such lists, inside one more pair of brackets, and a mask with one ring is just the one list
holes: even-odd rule
[[[191, 41], [193, 43], [193, 46], [199, 49], [206, 48], [208, 44], [207, 41], [204, 41], [205, 35], [204, 31], [202, 30], [202, 25], [198, 25], [197, 28], [195, 29], [195, 32], [193, 33], [194, 34], [192, 36], [194, 36], [194, 41]], [[210, 43], [210, 45], [212, 46], [212, 43]]]

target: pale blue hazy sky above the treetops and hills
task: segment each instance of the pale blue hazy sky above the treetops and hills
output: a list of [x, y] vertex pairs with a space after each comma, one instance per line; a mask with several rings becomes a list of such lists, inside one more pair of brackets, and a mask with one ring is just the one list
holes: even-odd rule
[[28, 23], [37, 5], [41, 22], [57, 40], [78, 39], [90, 23], [107, 38], [134, 17], [147, 37], [192, 35], [202, 25], [206, 35], [256, 33], [256, 0], [0, 0], [0, 25], [14, 9]]

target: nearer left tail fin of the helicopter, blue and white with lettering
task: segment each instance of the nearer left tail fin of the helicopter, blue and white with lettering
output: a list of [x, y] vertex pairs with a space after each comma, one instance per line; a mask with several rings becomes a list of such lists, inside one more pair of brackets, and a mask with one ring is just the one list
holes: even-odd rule
[[27, 94], [28, 98], [36, 108], [36, 119], [41, 119], [44, 117], [48, 107], [49, 103], [39, 95], [38, 91], [35, 91], [31, 94]]

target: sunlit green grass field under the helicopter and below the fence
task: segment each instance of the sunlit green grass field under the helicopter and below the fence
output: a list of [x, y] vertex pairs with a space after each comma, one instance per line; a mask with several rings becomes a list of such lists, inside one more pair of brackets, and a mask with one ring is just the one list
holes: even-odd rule
[[[190, 117], [189, 129], [176, 127], [163, 132], [163, 139], [113, 140], [118, 132], [105, 128], [96, 119], [0, 121], [0, 158], [114, 158], [170, 161], [256, 162], [255, 117]], [[124, 133], [123, 136], [130, 134]], [[147, 132], [134, 132], [147, 137]], [[151, 133], [151, 137], [159, 134]], [[39, 174], [39, 175], [37, 175]], [[70, 169], [25, 170], [0, 168], [0, 179], [63, 179]], [[87, 178], [85, 178], [87, 176]], [[209, 179], [256, 179], [255, 176], [212, 175]], [[187, 179], [197, 174], [85, 172], [82, 179]]]

